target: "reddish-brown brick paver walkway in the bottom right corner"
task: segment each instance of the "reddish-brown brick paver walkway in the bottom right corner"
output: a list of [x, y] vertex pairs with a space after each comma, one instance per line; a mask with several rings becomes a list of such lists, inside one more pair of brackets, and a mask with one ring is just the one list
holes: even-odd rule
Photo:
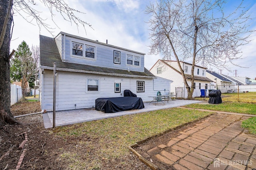
[[252, 170], [256, 168], [256, 136], [246, 133], [243, 115], [218, 114], [189, 127], [147, 152], [177, 170]]

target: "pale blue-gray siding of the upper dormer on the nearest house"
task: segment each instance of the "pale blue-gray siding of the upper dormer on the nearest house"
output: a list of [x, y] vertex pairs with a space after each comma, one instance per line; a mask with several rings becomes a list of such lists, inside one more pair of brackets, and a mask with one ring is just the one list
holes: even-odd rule
[[[63, 41], [64, 39], [62, 39], [62, 42]], [[84, 45], [90, 45], [95, 47], [95, 60], [72, 56], [72, 42], [77, 42]], [[141, 53], [136, 53], [134, 51], [125, 51], [123, 49], [109, 47], [107, 45], [102, 45], [102, 44], [89, 42], [89, 41], [68, 37], [68, 36], [66, 36], [65, 43], [66, 43], [65, 44], [65, 62], [88, 64], [92, 66], [100, 66], [100, 67], [115, 68], [115, 69], [122, 69], [122, 70], [128, 70], [129, 68], [130, 71], [144, 72], [144, 55], [142, 55]], [[85, 49], [84, 45], [83, 45], [83, 48]], [[58, 46], [58, 49], [60, 50], [61, 46], [58, 44], [57, 46]], [[84, 49], [83, 49], [83, 54], [85, 55]], [[61, 50], [63, 53], [63, 48]], [[120, 64], [114, 63], [114, 51], [121, 52]], [[127, 65], [126, 54], [140, 57], [140, 66]]]

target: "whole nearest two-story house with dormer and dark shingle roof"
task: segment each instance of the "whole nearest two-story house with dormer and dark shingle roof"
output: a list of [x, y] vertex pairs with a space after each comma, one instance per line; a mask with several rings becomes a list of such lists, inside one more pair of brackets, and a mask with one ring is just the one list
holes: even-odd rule
[[53, 65], [56, 72], [56, 110], [95, 107], [97, 98], [123, 97], [131, 90], [143, 102], [172, 81], [144, 68], [144, 53], [60, 32], [55, 38], [40, 35], [41, 107], [53, 110]]

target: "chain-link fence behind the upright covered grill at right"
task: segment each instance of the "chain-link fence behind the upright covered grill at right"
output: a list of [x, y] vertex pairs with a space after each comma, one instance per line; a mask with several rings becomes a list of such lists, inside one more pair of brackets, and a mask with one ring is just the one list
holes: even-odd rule
[[[256, 85], [192, 86], [195, 100], [209, 100], [209, 92], [219, 89], [222, 101], [256, 103]], [[188, 98], [186, 87], [175, 88], [177, 99]]]

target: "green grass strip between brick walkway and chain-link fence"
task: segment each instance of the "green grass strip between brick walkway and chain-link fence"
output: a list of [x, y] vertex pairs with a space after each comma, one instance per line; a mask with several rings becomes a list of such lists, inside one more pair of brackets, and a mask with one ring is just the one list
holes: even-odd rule
[[190, 104], [184, 107], [256, 115], [256, 104], [252, 103], [222, 102], [221, 104]]

